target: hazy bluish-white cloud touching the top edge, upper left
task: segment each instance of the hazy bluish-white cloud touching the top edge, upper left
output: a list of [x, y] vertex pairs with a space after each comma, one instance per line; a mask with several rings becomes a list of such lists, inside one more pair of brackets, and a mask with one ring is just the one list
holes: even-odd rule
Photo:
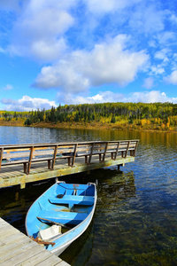
[[12, 29], [12, 44], [8, 51], [18, 56], [32, 56], [50, 62], [66, 49], [63, 35], [74, 20], [67, 9], [74, 4], [62, 1], [31, 0]]

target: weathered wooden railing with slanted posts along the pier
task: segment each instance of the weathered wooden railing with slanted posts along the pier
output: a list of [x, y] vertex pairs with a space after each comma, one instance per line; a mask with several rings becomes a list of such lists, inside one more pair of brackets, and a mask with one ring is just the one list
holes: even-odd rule
[[0, 170], [2, 167], [23, 164], [24, 173], [29, 174], [33, 162], [47, 161], [48, 168], [53, 170], [56, 160], [67, 159], [68, 166], [73, 167], [77, 157], [85, 158], [85, 163], [90, 164], [92, 157], [99, 156], [99, 161], [104, 161], [107, 154], [112, 160], [118, 156], [127, 158], [135, 157], [139, 140], [119, 141], [90, 141], [79, 143], [50, 143], [27, 145], [0, 145]]

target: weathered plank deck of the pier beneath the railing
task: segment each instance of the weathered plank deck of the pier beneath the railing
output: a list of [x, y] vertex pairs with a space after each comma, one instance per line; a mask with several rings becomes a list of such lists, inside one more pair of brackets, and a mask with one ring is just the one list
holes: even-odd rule
[[21, 188], [30, 182], [45, 180], [57, 176], [66, 176], [75, 173], [81, 173], [97, 168], [104, 168], [113, 165], [124, 165], [127, 162], [135, 161], [135, 157], [127, 156], [122, 158], [118, 156], [116, 160], [111, 160], [110, 156], [106, 156], [104, 161], [99, 161], [98, 156], [94, 155], [92, 162], [86, 164], [84, 158], [76, 158], [74, 166], [68, 166], [67, 160], [58, 160], [55, 169], [48, 168], [46, 162], [35, 162], [31, 166], [30, 173], [27, 175], [23, 171], [23, 165], [12, 165], [1, 168], [0, 171], [0, 188], [20, 184]]

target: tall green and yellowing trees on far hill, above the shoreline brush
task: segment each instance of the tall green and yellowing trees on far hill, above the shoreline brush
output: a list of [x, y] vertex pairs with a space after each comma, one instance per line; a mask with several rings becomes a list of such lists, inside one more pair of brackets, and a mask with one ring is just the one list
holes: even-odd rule
[[177, 105], [173, 103], [105, 103], [105, 104], [84, 104], [51, 107], [50, 110], [32, 111], [28, 114], [26, 125], [36, 122], [121, 122], [128, 123], [170, 123], [177, 125]]

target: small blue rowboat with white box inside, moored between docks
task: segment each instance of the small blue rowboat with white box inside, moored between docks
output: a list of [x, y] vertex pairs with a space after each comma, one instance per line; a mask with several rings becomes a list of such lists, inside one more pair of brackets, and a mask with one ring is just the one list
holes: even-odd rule
[[96, 208], [96, 184], [57, 181], [29, 208], [27, 235], [59, 255], [87, 230]]

